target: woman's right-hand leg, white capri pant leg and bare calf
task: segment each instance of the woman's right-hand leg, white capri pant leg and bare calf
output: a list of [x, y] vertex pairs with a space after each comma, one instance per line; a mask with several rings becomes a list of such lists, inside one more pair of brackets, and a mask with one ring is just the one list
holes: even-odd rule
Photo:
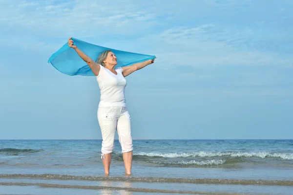
[[117, 122], [117, 132], [119, 135], [119, 142], [121, 144], [123, 160], [125, 165], [126, 175], [131, 174], [132, 166], [132, 137], [131, 137], [131, 125], [130, 116], [125, 108], [122, 109], [121, 116], [118, 118]]

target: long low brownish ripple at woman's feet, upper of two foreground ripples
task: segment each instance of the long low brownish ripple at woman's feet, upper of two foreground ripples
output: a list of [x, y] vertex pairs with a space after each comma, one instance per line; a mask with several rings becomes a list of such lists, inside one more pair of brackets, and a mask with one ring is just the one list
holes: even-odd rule
[[0, 178], [31, 178], [53, 180], [84, 180], [84, 181], [128, 181], [128, 182], [160, 182], [160, 183], [192, 183], [222, 185], [265, 185], [293, 186], [293, 180], [254, 180], [254, 179], [215, 179], [215, 178], [168, 178], [168, 177], [134, 177], [134, 176], [77, 176], [61, 174], [0, 174]]

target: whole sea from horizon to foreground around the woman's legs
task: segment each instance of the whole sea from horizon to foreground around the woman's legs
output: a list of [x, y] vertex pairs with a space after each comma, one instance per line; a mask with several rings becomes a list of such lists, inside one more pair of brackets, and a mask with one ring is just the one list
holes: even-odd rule
[[293, 195], [293, 140], [0, 140], [0, 195]]

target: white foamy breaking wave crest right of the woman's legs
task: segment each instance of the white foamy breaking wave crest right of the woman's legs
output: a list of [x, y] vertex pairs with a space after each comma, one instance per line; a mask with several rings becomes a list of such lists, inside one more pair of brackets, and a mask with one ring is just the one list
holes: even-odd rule
[[257, 158], [281, 158], [293, 160], [293, 153], [272, 152], [175, 152], [175, 153], [134, 153], [134, 156], [164, 157], [164, 158], [187, 158], [187, 157], [257, 157]]

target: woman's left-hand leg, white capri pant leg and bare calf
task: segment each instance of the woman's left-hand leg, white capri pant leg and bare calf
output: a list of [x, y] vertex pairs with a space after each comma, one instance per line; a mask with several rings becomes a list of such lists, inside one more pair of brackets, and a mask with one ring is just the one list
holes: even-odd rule
[[105, 175], [110, 173], [111, 153], [114, 150], [114, 137], [117, 126], [116, 108], [99, 108], [98, 120], [102, 132], [101, 157]]

